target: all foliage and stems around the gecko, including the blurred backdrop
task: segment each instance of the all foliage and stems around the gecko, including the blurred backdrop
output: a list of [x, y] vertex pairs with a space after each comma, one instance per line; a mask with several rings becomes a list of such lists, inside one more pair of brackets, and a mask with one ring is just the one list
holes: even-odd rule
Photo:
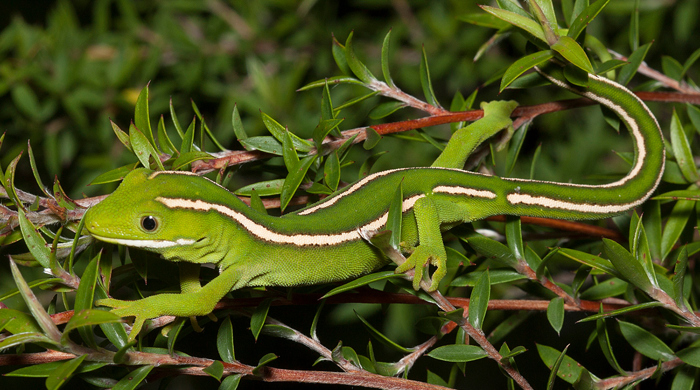
[[[198, 383], [222, 389], [250, 378], [379, 388], [661, 380], [691, 389], [700, 367], [700, 109], [691, 105], [700, 103], [700, 51], [690, 39], [698, 2], [569, 0], [560, 9], [500, 0], [483, 10], [474, 2], [387, 2], [373, 11], [400, 16], [389, 33], [390, 23], [362, 14], [369, 2], [324, 3], [103, 0], [83, 26], [82, 10], [64, 1], [46, 28], [15, 18], [0, 33], [0, 233], [10, 254], [0, 273], [0, 365], [26, 364], [3, 372], [15, 383], [42, 378], [51, 389], [77, 378], [135, 388], [183, 375], [211, 376]], [[107, 291], [137, 297], [177, 288], [177, 270], [82, 235], [85, 209], [102, 198], [72, 199], [63, 188], [115, 183], [137, 165], [192, 170], [237, 188], [256, 209], [288, 212], [370, 170], [429, 163], [450, 131], [478, 117], [463, 112], [476, 101], [501, 91], [498, 99], [521, 106], [555, 100], [563, 92], [535, 90], [527, 72], [552, 58], [629, 84], [644, 100], [687, 103], [652, 106], [668, 140], [663, 183], [639, 213], [614, 218], [614, 228], [479, 221], [446, 235], [450, 267], [438, 293], [416, 293], [390, 268], [342, 286], [249, 288], [220, 303], [217, 323], [160, 318], [151, 323], [160, 330], [136, 343], [118, 317], [93, 307]], [[630, 153], [605, 154], [628, 148], [606, 128], [619, 125], [606, 111], [530, 124], [539, 108], [521, 107], [512, 138], [475, 153], [471, 168], [599, 183], [629, 167]], [[423, 121], [409, 119], [417, 112]], [[529, 148], [540, 142], [533, 135], [541, 148]], [[29, 164], [20, 153], [27, 138]], [[63, 184], [45, 187], [45, 174]], [[20, 190], [37, 184], [42, 194]], [[376, 244], [395, 259], [395, 237]], [[314, 359], [320, 371], [311, 371]]]

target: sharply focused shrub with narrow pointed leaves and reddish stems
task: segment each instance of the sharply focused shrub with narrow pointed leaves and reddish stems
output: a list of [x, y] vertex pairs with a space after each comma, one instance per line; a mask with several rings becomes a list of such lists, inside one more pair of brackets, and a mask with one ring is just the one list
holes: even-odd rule
[[[662, 72], [651, 68], [647, 56], [652, 45], [639, 44], [640, 40], [651, 40], [641, 38], [639, 29], [646, 12], [651, 11], [637, 5], [652, 8], [654, 5], [621, 2], [629, 3], [625, 7], [613, 3], [563, 1], [558, 9], [548, 0], [525, 4], [501, 0], [498, 7], [483, 6], [483, 11], [460, 13], [460, 19], [477, 26], [459, 28], [482, 34], [484, 43], [474, 51], [480, 61], [489, 55], [498, 56], [497, 49], [502, 47], [525, 51], [512, 61], [499, 60], [500, 71], [490, 69], [483, 85], [487, 91], [490, 84], [500, 81], [498, 92], [516, 97], [528, 95], [543, 84], [529, 70], [560, 58], [573, 64], [566, 70], [572, 83], [585, 82], [581, 71], [597, 73], [622, 84], [635, 85], [638, 96], [645, 101], [686, 103], [675, 105], [669, 115], [654, 109], [667, 135], [668, 161], [658, 194], [639, 213], [612, 219], [614, 226], [526, 217], [479, 221], [472, 226], [457, 227], [446, 235], [448, 273], [434, 293], [427, 293], [426, 286], [422, 286], [422, 291], [414, 291], [402, 275], [391, 269], [340, 286], [243, 289], [233, 292], [232, 299], [222, 300], [210, 318], [191, 322], [169, 317], [154, 319], [150, 329], [159, 328], [158, 331], [129, 342], [120, 318], [94, 307], [93, 302], [106, 298], [108, 291], [114, 294], [121, 290], [133, 296], [168, 291], [176, 286], [173, 282], [176, 268], [150, 254], [98, 244], [83, 235], [81, 220], [85, 210], [103, 197], [71, 199], [57, 180], [49, 191], [41, 181], [42, 168], [37, 164], [35, 152], [28, 147], [32, 177], [43, 194], [34, 195], [16, 185], [21, 153], [14, 153], [16, 157], [6, 164], [5, 170], [0, 170], [5, 200], [0, 232], [3, 247], [11, 253], [8, 267], [12, 275], [3, 282], [3, 287], [5, 284], [8, 287], [0, 296], [2, 302], [7, 302], [0, 308], [3, 332], [0, 350], [4, 351], [0, 354], [0, 366], [25, 365], [8, 369], [5, 375], [45, 378], [45, 386], [50, 389], [77, 378], [95, 387], [135, 388], [149, 379], [178, 375], [210, 376], [213, 379], [205, 382], [206, 385], [220, 389], [234, 389], [249, 379], [407, 389], [461, 388], [474, 380], [525, 389], [553, 388], [563, 382], [575, 388], [609, 389], [663, 380], [674, 389], [693, 388], [700, 367], [696, 337], [700, 333], [700, 318], [696, 315], [693, 268], [694, 256], [700, 251], [695, 231], [700, 191], [694, 159], [697, 147], [693, 145], [695, 133], [700, 133], [700, 110], [695, 106], [700, 104], [700, 92], [692, 77], [697, 77], [700, 50], [679, 57], [683, 62], [663, 57]], [[107, 15], [103, 8], [109, 2], [100, 4], [96, 12]], [[128, 2], [118, 4], [125, 14], [129, 13]], [[219, 7], [219, 11], [235, 12], [223, 3], [208, 4]], [[591, 31], [595, 30], [595, 24], [586, 29], [598, 17], [615, 18], [605, 13], [612, 15], [616, 11], [629, 11], [627, 15], [631, 15], [630, 54], [626, 57], [604, 45], [605, 39]], [[61, 16], [70, 14], [67, 3], [61, 3], [56, 12], [49, 30], [68, 23], [72, 26], [69, 32], [77, 34], [77, 23]], [[676, 12], [681, 13], [677, 9]], [[229, 20], [236, 20], [235, 16], [226, 15]], [[166, 16], [163, 23], [169, 26], [167, 21], [171, 19]], [[133, 19], [125, 20], [138, 24]], [[223, 29], [216, 27], [216, 31]], [[104, 26], [95, 28], [104, 29]], [[493, 35], [486, 37], [485, 31], [491, 30], [495, 30]], [[13, 31], [5, 32], [6, 36], [23, 36], [32, 35], [34, 29], [16, 21], [6, 31]], [[679, 34], [682, 36], [683, 32]], [[449, 110], [445, 109], [440, 101], [446, 101], [444, 76], [450, 73], [443, 68], [446, 60], [440, 58], [441, 53], [431, 51], [429, 42], [422, 50], [411, 51], [417, 58], [416, 66], [411, 69], [409, 85], [400, 88], [401, 81], [407, 77], [403, 77], [406, 70], [392, 60], [395, 36], [392, 30], [376, 40], [382, 42], [376, 49], [380, 53], [378, 63], [362, 60], [365, 45], [357, 43], [355, 33], [349, 32], [342, 42], [339, 38], [332, 39], [328, 56], [335, 60], [340, 75], [319, 78], [299, 88], [301, 95], [313, 96], [315, 102], [313, 121], [304, 119], [304, 124], [313, 128], [308, 132], [309, 138], [290, 131], [297, 126], [296, 118], [290, 114], [282, 117], [274, 105], [265, 107], [259, 114], [260, 120], [253, 121], [242, 115], [238, 105], [222, 102], [225, 120], [223, 115], [218, 115], [212, 121], [192, 102], [188, 109], [194, 113], [193, 119], [183, 126], [179, 117], [184, 115], [178, 114], [185, 108], [177, 103], [178, 99], [171, 100], [169, 105], [153, 104], [154, 99], [149, 96], [153, 91], [147, 85], [139, 94], [131, 95], [135, 96], [132, 99], [135, 111], [128, 127], [118, 124], [127, 121], [115, 120], [109, 124], [123, 150], [131, 152], [131, 158], [120, 157], [119, 164], [110, 162], [109, 169], [103, 162], [99, 169], [102, 172], [93, 175], [91, 182], [116, 182], [138, 165], [159, 170], [191, 170], [208, 174], [224, 186], [237, 187], [235, 194], [256, 210], [283, 213], [366, 176], [375, 165], [381, 166], [382, 160], [387, 160], [387, 157], [379, 160], [384, 155], [393, 157], [397, 165], [411, 165], [402, 159], [412, 153], [419, 156], [416, 158], [419, 161], [422, 156], [434, 157], [444, 148], [444, 138], [450, 131], [482, 115], [480, 110], [467, 111], [474, 102], [491, 100], [493, 96], [481, 99], [482, 94], [489, 92], [475, 90], [465, 98], [456, 92]], [[190, 47], [193, 42], [188, 46], [183, 37], [169, 38], [174, 50], [182, 46], [194, 50]], [[129, 49], [130, 45], [127, 42], [123, 49], [126, 54], [120, 55], [128, 57], [133, 50]], [[56, 66], [60, 69], [60, 61], [66, 61], [63, 55], [58, 47], [56, 58], [48, 62], [59, 64]], [[199, 60], [208, 62], [206, 57]], [[110, 76], [114, 80], [107, 78], [107, 81], [112, 88], [120, 88], [126, 83], [118, 76], [127, 77], [125, 74], [135, 69], [135, 65], [126, 70], [112, 66], [117, 68]], [[437, 72], [440, 77], [436, 76], [436, 67], [441, 68]], [[260, 68], [259, 62], [249, 59], [247, 70], [258, 92], [271, 98], [279, 85], [271, 86]], [[380, 72], [373, 72], [375, 68]], [[143, 72], [147, 76], [155, 73]], [[182, 73], [189, 75], [191, 69]], [[299, 81], [291, 73], [282, 84]], [[49, 84], [52, 88], [64, 87], [42, 93], [46, 100], [40, 100], [29, 87], [39, 84], [37, 74], [27, 73], [26, 79], [7, 87], [21, 107], [21, 114], [29, 117], [20, 123], [31, 123], [38, 129], [39, 124], [49, 121], [60, 104], [71, 121], [79, 127], [87, 126], [89, 120], [83, 109], [95, 90], [81, 92], [85, 94], [84, 100], [71, 97], [72, 94], [63, 95], [61, 91], [82, 87], [68, 76], [66, 80], [71, 82], [61, 81], [62, 74], [56, 73], [57, 80]], [[643, 82], [644, 78], [637, 74], [649, 81]], [[95, 77], [85, 75], [86, 79]], [[142, 81], [145, 84], [146, 80]], [[192, 92], [200, 87], [197, 81], [181, 84], [181, 90], [172, 82], [167, 88], [177, 91], [176, 94]], [[153, 82], [152, 88], [159, 88], [157, 84]], [[516, 94], [513, 92], [516, 88], [526, 91]], [[404, 89], [422, 91], [423, 98]], [[540, 90], [537, 91], [540, 95]], [[251, 104], [255, 103], [248, 101], [245, 106]], [[476, 157], [468, 162], [469, 168], [498, 176], [529, 175], [559, 180], [573, 177], [591, 182], [617, 177], [618, 172], [631, 164], [631, 153], [618, 152], [616, 160], [610, 163], [613, 165], [610, 173], [594, 176], [589, 172], [587, 164], [593, 161], [602, 165], [596, 161], [600, 159], [599, 153], [609, 150], [610, 143], [617, 143], [616, 136], [611, 135], [614, 132], [600, 128], [604, 128], [605, 121], [613, 127], [619, 126], [616, 118], [595, 107], [586, 109], [590, 110], [586, 111], [590, 114], [587, 116], [594, 119], [581, 120], [584, 129], [580, 133], [571, 130], [572, 134], [565, 134], [573, 141], [567, 141], [566, 137], [562, 140], [561, 134], [542, 135], [547, 145], [535, 148], [530, 155], [523, 154], [523, 146], [528, 142], [526, 133], [542, 126], [539, 120], [531, 124], [540, 114], [591, 104], [585, 99], [573, 99], [554, 106], [521, 105], [514, 113], [515, 133], [503, 134], [477, 151]], [[423, 116], [419, 119], [400, 116], [411, 109], [410, 115], [420, 112]], [[161, 111], [163, 115], [153, 115]], [[91, 115], [99, 114], [88, 116]], [[367, 124], [370, 120], [380, 123]], [[253, 122], [257, 123], [253, 125], [256, 129], [264, 128], [269, 135], [251, 131]], [[569, 126], [570, 119], [553, 122], [553, 131], [559, 133], [575, 127]], [[352, 127], [348, 123], [361, 125]], [[442, 129], [428, 129], [446, 124], [449, 126]], [[227, 130], [220, 131], [224, 126]], [[231, 135], [235, 135], [239, 149], [224, 147], [233, 143], [228, 139]], [[47, 142], [41, 140], [44, 136], [36, 135], [39, 142]], [[389, 137], [400, 142], [400, 146], [411, 145], [411, 152], [376, 152], [387, 141], [383, 138]], [[356, 144], [362, 144], [362, 150]], [[559, 150], [559, 157], [543, 155], [546, 149]], [[46, 161], [52, 149], [48, 147], [44, 151], [41, 157]], [[121, 166], [112, 169], [116, 165]], [[234, 176], [237, 173], [258, 179], [252, 184], [234, 185], [233, 181], [239, 180]], [[372, 242], [400, 264], [405, 260], [397, 250], [400, 233], [396, 233], [401, 226], [401, 213], [397, 211], [401, 209], [401, 188], [396, 194], [398, 201], [392, 204], [394, 211], [390, 211], [387, 225], [393, 233], [378, 234]], [[30, 277], [31, 267], [44, 269], [49, 275], [34, 273]], [[214, 272], [203, 274], [204, 279], [213, 277]], [[32, 290], [35, 287], [52, 291], [54, 297], [60, 296], [60, 303], [56, 298], [49, 304], [42, 303]], [[20, 296], [24, 306], [12, 300], [13, 296]], [[384, 315], [378, 315], [380, 312]], [[334, 323], [346, 326], [343, 333], [328, 333]], [[537, 331], [532, 332], [535, 326]], [[204, 332], [200, 334], [201, 327]], [[306, 327], [310, 327], [309, 332], [299, 330]], [[362, 333], [357, 329], [362, 329]], [[291, 343], [283, 347], [263, 344], [275, 339]], [[202, 343], [211, 350], [198, 348]], [[284, 367], [289, 356], [304, 349], [311, 351], [308, 365], [294, 369], [277, 366]], [[585, 349], [595, 357], [591, 358], [590, 352], [584, 354]], [[314, 359], [318, 369], [312, 368]], [[505, 375], [498, 376], [499, 371]], [[666, 374], [664, 378], [662, 374]]]

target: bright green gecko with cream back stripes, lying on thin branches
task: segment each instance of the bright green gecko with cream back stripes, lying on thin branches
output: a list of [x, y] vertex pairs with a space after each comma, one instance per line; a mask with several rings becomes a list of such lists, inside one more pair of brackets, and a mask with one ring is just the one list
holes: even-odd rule
[[[627, 125], [635, 161], [623, 178], [581, 185], [501, 178], [459, 168], [481, 142], [511, 126], [514, 102], [485, 104], [484, 118], [458, 130], [432, 167], [371, 174], [332, 196], [281, 217], [253, 210], [227, 189], [189, 172], [137, 169], [85, 215], [95, 238], [159, 253], [180, 268], [180, 294], [137, 301], [103, 299], [98, 305], [134, 316], [130, 338], [145, 320], [162, 315], [209, 314], [229, 291], [246, 286], [294, 286], [354, 278], [387, 263], [364, 237], [385, 226], [390, 200], [403, 190], [402, 243], [418, 289], [427, 264], [436, 266], [431, 290], [445, 275], [442, 230], [492, 215], [599, 219], [642, 204], [664, 170], [663, 138], [656, 119], [625, 87], [589, 75], [588, 88], [545, 75], [560, 87], [614, 111]], [[199, 264], [220, 275], [202, 286]]]

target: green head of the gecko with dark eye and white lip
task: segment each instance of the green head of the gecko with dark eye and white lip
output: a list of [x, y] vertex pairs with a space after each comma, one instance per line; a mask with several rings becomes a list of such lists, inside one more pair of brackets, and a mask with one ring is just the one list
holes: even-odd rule
[[171, 209], [159, 199], [197, 197], [210, 191], [206, 187], [211, 185], [215, 186], [185, 174], [136, 169], [114, 193], [86, 212], [85, 227], [101, 241], [158, 252], [174, 261], [209, 262], [196, 253], [211, 239], [201, 215]]

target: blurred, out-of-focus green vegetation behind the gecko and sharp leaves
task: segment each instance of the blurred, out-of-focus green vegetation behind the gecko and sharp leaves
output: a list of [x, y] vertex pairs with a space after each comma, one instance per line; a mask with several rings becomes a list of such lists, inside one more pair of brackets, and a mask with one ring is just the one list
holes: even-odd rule
[[[445, 107], [456, 92], [467, 96], [476, 88], [480, 88], [478, 101], [498, 98], [536, 104], [570, 96], [551, 88], [539, 89], [537, 94], [497, 93], [498, 83], [489, 81], [498, 80], [499, 72], [521, 56], [517, 47], [524, 41], [510, 39], [474, 62], [493, 31], [468, 25], [460, 17], [480, 12], [478, 3], [484, 1], [5, 1], [0, 4], [0, 130], [6, 136], [0, 162], [6, 167], [30, 140], [45, 183], [56, 176], [68, 195], [76, 198], [110, 192], [113, 187], [86, 184], [103, 172], [137, 161], [114, 136], [109, 121], [127, 129], [136, 97], [149, 82], [151, 119], [165, 115], [169, 132], [174, 133], [168, 120], [170, 100], [181, 123], [189, 123], [194, 115], [191, 99], [217, 138], [230, 149], [240, 149], [231, 127], [236, 104], [249, 135], [267, 133], [260, 120], [262, 111], [294, 133], [310, 137], [320, 116], [320, 90], [296, 90], [340, 74], [331, 54], [332, 35], [344, 42], [351, 31], [360, 57], [379, 74], [381, 43], [391, 29], [394, 80], [419, 97], [418, 68], [424, 48], [433, 87]], [[639, 5], [640, 41], [654, 41], [647, 63], [671, 72], [674, 61], [683, 63], [698, 48], [700, 1], [641, 0]], [[634, 6], [634, 0], [612, 1], [589, 32], [609, 48], [629, 55], [628, 31]], [[690, 75], [699, 76], [697, 64]], [[637, 76], [633, 83], [645, 80]], [[332, 88], [331, 94], [334, 102], [342, 102], [364, 93], [361, 90], [340, 86]], [[343, 111], [343, 129], [423, 116], [405, 109], [388, 118], [370, 119], [369, 112], [382, 99], [372, 98]], [[663, 115], [671, 112], [672, 105], [652, 108], [662, 114], [662, 126], [667, 127], [668, 117]], [[621, 147], [623, 150], [629, 149], [626, 135], [619, 137], [601, 123], [602, 119], [586, 115], [585, 110], [538, 119], [523, 152], [527, 156], [538, 143], [545, 144], [536, 177], [585, 182], [592, 170], [624, 167], [598, 167], [601, 156], [609, 155], [611, 145], [619, 140], [627, 145]], [[390, 140], [380, 148], [395, 152], [382, 160], [380, 168], [426, 165], [437, 155], [437, 150], [425, 144], [402, 140]], [[524, 163], [518, 169], [516, 174], [526, 176], [529, 165]], [[26, 159], [18, 166], [16, 185], [39, 192]], [[5, 282], [14, 288], [9, 277], [3, 278]], [[284, 317], [285, 310], [292, 317], [297, 313], [296, 308], [290, 308], [277, 314]], [[400, 317], [400, 310], [404, 309], [390, 315]], [[336, 314], [339, 322], [354, 319], [351, 310]], [[543, 318], [538, 321], [527, 328], [548, 326]], [[293, 321], [291, 325], [295, 325]], [[384, 331], [400, 343], [416, 342], [413, 329]], [[551, 329], [547, 331], [556, 337]], [[344, 341], [352, 337], [344, 337]], [[367, 337], [363, 334], [358, 338], [365, 340], [359, 343], [362, 345]], [[237, 348], [254, 347], [249, 337], [239, 344], [241, 339], [237, 339]], [[631, 353], [629, 348], [627, 352]], [[539, 361], [530, 363], [542, 368]], [[527, 371], [528, 362], [523, 365]], [[491, 362], [474, 367], [488, 367], [498, 376]], [[483, 379], [483, 373], [477, 373], [476, 378]], [[541, 384], [538, 380], [532, 383]]]

